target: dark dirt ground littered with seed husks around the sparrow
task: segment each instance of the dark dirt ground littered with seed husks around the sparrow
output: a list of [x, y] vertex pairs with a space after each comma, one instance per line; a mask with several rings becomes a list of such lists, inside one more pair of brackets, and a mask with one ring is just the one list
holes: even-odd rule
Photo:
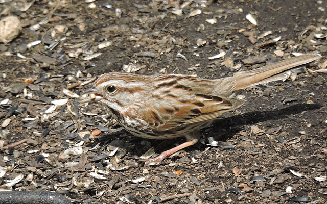
[[[295, 0], [1, 1], [1, 19], [17, 16], [22, 31], [0, 44], [0, 190], [74, 203], [326, 203], [326, 9]], [[184, 138], [135, 137], [73, 94], [124, 67], [215, 79], [309, 52], [323, 57], [243, 91], [241, 108], [160, 165], [140, 156]]]

